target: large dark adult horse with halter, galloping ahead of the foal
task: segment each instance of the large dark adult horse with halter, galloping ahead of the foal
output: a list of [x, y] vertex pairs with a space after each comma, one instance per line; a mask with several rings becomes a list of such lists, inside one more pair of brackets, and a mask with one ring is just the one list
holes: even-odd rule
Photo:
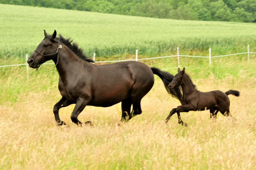
[[153, 74], [163, 80], [169, 94], [180, 100], [180, 89], [168, 88], [174, 77], [172, 74], [136, 61], [95, 65], [76, 43], [71, 43], [70, 38], [64, 39], [61, 35], [56, 38], [55, 30], [52, 35], [44, 31], [43, 41], [27, 61], [30, 67], [36, 69], [48, 60], [53, 60], [56, 65], [62, 96], [53, 108], [57, 125], [66, 124], [60, 121], [59, 109], [70, 104], [76, 104], [71, 120], [77, 125], [82, 125], [77, 117], [86, 106], [109, 107], [122, 102], [121, 120], [141, 114], [140, 101], [154, 84]]

